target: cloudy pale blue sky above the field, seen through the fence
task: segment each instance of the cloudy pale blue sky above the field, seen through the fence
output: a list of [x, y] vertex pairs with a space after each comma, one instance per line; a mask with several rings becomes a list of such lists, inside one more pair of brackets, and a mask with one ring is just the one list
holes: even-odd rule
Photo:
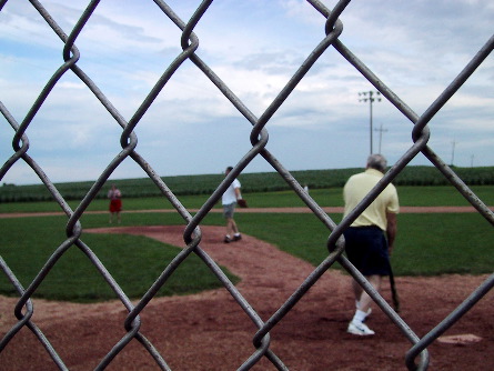
[[[89, 1], [40, 1], [70, 34]], [[167, 3], [186, 22], [199, 0]], [[336, 1], [322, 1], [332, 9]], [[340, 41], [422, 114], [494, 33], [491, 0], [352, 1]], [[258, 118], [325, 36], [325, 19], [301, 0], [216, 0], [194, 29], [196, 54]], [[125, 120], [180, 54], [181, 30], [151, 0], [102, 0], [75, 41], [85, 74]], [[0, 11], [0, 101], [21, 123], [63, 63], [63, 42], [27, 0]], [[375, 91], [334, 48], [314, 63], [266, 124], [268, 150], [290, 171], [363, 168]], [[386, 99], [372, 107], [373, 152], [390, 164], [413, 144], [412, 122]], [[446, 163], [494, 166], [494, 56], [431, 120], [429, 146]], [[138, 123], [137, 152], [162, 177], [223, 172], [251, 149], [251, 123], [185, 61]], [[13, 129], [0, 114], [0, 161]], [[53, 182], [95, 180], [121, 151], [122, 128], [68, 71], [28, 127], [28, 153]], [[412, 166], [431, 164], [419, 154]], [[255, 158], [245, 172], [274, 171]], [[143, 178], [125, 159], [110, 179]], [[22, 161], [2, 183], [39, 183]]]

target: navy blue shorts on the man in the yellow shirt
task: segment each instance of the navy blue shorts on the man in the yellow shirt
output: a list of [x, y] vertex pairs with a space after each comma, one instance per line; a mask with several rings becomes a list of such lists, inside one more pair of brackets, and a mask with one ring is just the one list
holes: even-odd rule
[[387, 240], [379, 227], [350, 227], [345, 237], [346, 257], [363, 275], [389, 275]]

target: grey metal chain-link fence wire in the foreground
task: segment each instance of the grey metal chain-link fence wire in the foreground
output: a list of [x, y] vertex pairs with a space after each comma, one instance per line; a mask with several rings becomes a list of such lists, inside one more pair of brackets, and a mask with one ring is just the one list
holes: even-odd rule
[[[494, 37], [487, 40], [476, 56], [464, 67], [461, 73], [450, 83], [450, 86], [437, 97], [437, 99], [427, 108], [423, 114], [415, 113], [404, 101], [400, 99], [377, 76], [375, 76], [355, 54], [349, 50], [342, 41], [339, 39], [342, 34], [343, 24], [340, 21], [340, 16], [345, 11], [350, 0], [339, 1], [334, 9], [327, 9], [322, 2], [316, 0], [308, 0], [308, 3], [314, 9], [314, 13], [319, 13], [321, 19], [325, 19], [325, 34], [321, 39], [317, 47], [310, 53], [310, 56], [303, 61], [298, 71], [293, 74], [286, 86], [280, 91], [278, 97], [272, 101], [268, 109], [258, 118], [249, 108], [236, 97], [232, 90], [223, 82], [223, 80], [203, 61], [198, 54], [199, 37], [194, 33], [195, 26], [201, 21], [201, 18], [208, 12], [208, 8], [212, 3], [212, 0], [202, 1], [198, 7], [192, 18], [189, 21], [180, 19], [173, 9], [171, 9], [167, 2], [161, 0], [154, 0], [154, 3], [161, 10], [163, 17], [170, 19], [181, 30], [181, 47], [182, 51], [175, 57], [175, 59], [168, 66], [165, 71], [161, 74], [158, 82], [151, 89], [147, 98], [142, 101], [138, 110], [133, 113], [131, 119], [127, 121], [121, 112], [115, 109], [110, 99], [100, 90], [90, 76], [88, 76], [79, 66], [80, 52], [77, 48], [77, 40], [81, 31], [84, 29], [87, 22], [91, 19], [94, 10], [100, 4], [100, 1], [93, 0], [88, 3], [88, 7], [80, 16], [77, 24], [72, 30], [67, 30], [65, 33], [58, 23], [57, 20], [46, 10], [41, 1], [31, 0], [30, 3], [44, 19], [46, 23], [51, 28], [52, 32], [63, 42], [63, 63], [51, 76], [49, 81], [43, 87], [40, 94], [32, 103], [31, 109], [26, 114], [21, 122], [18, 122], [9, 108], [0, 102], [0, 111], [8, 123], [13, 129], [12, 137], [12, 156], [6, 160], [4, 164], [0, 169], [0, 179], [9, 172], [13, 164], [17, 162], [24, 162], [43, 182], [46, 188], [52, 194], [53, 199], [60, 205], [60, 209], [67, 214], [68, 222], [65, 225], [67, 239], [61, 243], [52, 255], [44, 262], [44, 265], [39, 271], [37, 277], [32, 280], [29, 287], [24, 288], [19, 282], [13, 272], [6, 261], [0, 257], [0, 267], [7, 278], [10, 280], [14, 290], [19, 293], [19, 301], [16, 305], [14, 314], [18, 322], [3, 335], [0, 341], [0, 352], [9, 344], [12, 338], [16, 337], [19, 331], [27, 328], [38, 339], [38, 341], [44, 347], [46, 351], [50, 354], [53, 363], [60, 369], [65, 370], [68, 367], [64, 364], [60, 353], [54, 349], [50, 339], [48, 339], [43, 332], [31, 320], [34, 311], [32, 297], [36, 293], [39, 285], [49, 274], [50, 270], [57, 264], [61, 257], [69, 249], [80, 249], [87, 258], [91, 261], [94, 268], [99, 271], [101, 277], [104, 278], [107, 284], [114, 291], [115, 295], [122, 302], [128, 311], [124, 327], [127, 333], [114, 344], [108, 354], [103, 357], [97, 367], [98, 370], [107, 368], [112, 360], [121, 352], [131, 340], [138, 340], [143, 349], [149, 352], [154, 359], [157, 365], [162, 370], [170, 370], [165, 359], [154, 348], [153, 343], [140, 332], [140, 313], [148, 305], [148, 303], [155, 297], [157, 292], [167, 284], [167, 280], [173, 274], [173, 272], [180, 267], [180, 264], [190, 254], [196, 254], [202, 259], [211, 271], [215, 274], [223, 287], [231, 293], [231, 297], [235, 300], [238, 305], [249, 315], [252, 323], [256, 327], [258, 332], [253, 338], [254, 351], [251, 357], [239, 368], [239, 370], [249, 370], [255, 365], [262, 358], [266, 358], [276, 369], [288, 370], [283, 360], [278, 357], [270, 349], [270, 331], [276, 327], [276, 324], [283, 320], [283, 318], [290, 313], [291, 309], [304, 297], [311, 287], [313, 287], [317, 280], [331, 268], [335, 262], [339, 262], [372, 297], [375, 303], [383, 310], [396, 328], [401, 331], [404, 338], [406, 338], [411, 348], [405, 354], [405, 363], [410, 370], [425, 370], [429, 367], [429, 352], [430, 347], [442, 333], [456, 323], [465, 313], [471, 310], [475, 303], [481, 300], [494, 285], [494, 274], [488, 277], [471, 295], [461, 303], [450, 315], [438, 323], [434, 329], [423, 337], [419, 337], [409, 327], [409, 324], [391, 308], [387, 302], [372, 288], [366, 279], [347, 261], [344, 252], [344, 239], [342, 233], [357, 215], [380, 194], [380, 192], [392, 182], [397, 174], [420, 153], [425, 156], [429, 161], [436, 167], [444, 178], [446, 178], [451, 184], [453, 184], [457, 192], [460, 192], [481, 214], [487, 222], [494, 224], [493, 212], [480, 200], [475, 193], [456, 176], [454, 170], [450, 168], [434, 150], [429, 147], [429, 140], [431, 137], [429, 130], [429, 122], [434, 116], [443, 108], [443, 106], [452, 98], [462, 84], [467, 81], [477, 67], [480, 67], [486, 57], [492, 52], [494, 48]], [[6, 6], [7, 0], [0, 1], [0, 11]], [[1, 17], [0, 12], [0, 17]], [[413, 138], [413, 144], [402, 154], [399, 161], [387, 171], [382, 181], [365, 197], [364, 200], [339, 224], [335, 223], [323, 209], [303, 190], [303, 187], [299, 181], [288, 171], [283, 164], [276, 160], [276, 158], [266, 149], [269, 141], [269, 134], [266, 124], [270, 122], [273, 114], [284, 103], [286, 98], [292, 93], [299, 82], [304, 78], [308, 71], [313, 64], [327, 51], [329, 48], [334, 48], [353, 68], [359, 71], [383, 97], [385, 97], [404, 117], [411, 122], [411, 133]], [[183, 66], [184, 62], [192, 62], [211, 82], [218, 88], [218, 90], [231, 102], [231, 104], [250, 122], [252, 126], [250, 141], [252, 148], [244, 153], [243, 158], [236, 163], [233, 170], [221, 182], [218, 189], [209, 197], [206, 202], [200, 208], [200, 210], [192, 215], [191, 212], [179, 201], [169, 187], [162, 181], [154, 169], [141, 157], [137, 151], [138, 137], [135, 134], [135, 128], [140, 123], [143, 114], [150, 109], [155, 101], [158, 94], [163, 90], [165, 84], [170, 81], [177, 71]], [[87, 192], [80, 204], [72, 210], [68, 202], [63, 199], [57, 187], [50, 181], [48, 174], [43, 172], [43, 169], [38, 164], [36, 159], [29, 154], [29, 137], [27, 136], [27, 129], [37, 117], [39, 110], [53, 91], [57, 83], [65, 74], [77, 76], [81, 82], [92, 92], [92, 94], [100, 101], [102, 107], [111, 114], [115, 123], [122, 129], [120, 137], [121, 151], [113, 160], [108, 163], [104, 171], [94, 181], [91, 189]], [[232, 183], [232, 181], [241, 174], [241, 172], [248, 167], [254, 159], [263, 158], [293, 189], [301, 200], [312, 210], [313, 214], [327, 228], [329, 238], [326, 249], [329, 251], [327, 258], [316, 267], [313, 272], [300, 284], [296, 291], [272, 314], [266, 321], [263, 321], [260, 314], [252, 308], [252, 305], [242, 297], [236, 290], [234, 284], [222, 272], [216, 262], [211, 259], [208, 253], [201, 249], [201, 222], [209, 214], [214, 204], [221, 199], [222, 193]], [[125, 160], [132, 159], [148, 177], [154, 182], [167, 198], [177, 213], [184, 220], [186, 227], [183, 233], [183, 240], [186, 245], [167, 267], [161, 273], [154, 284], [148, 290], [141, 300], [134, 305], [128, 298], [125, 292], [120, 288], [119, 283], [113, 279], [110, 272], [105, 269], [104, 264], [99, 260], [98, 255], [93, 253], [91, 248], [81, 240], [82, 224], [81, 217], [88, 209], [88, 205], [94, 200], [99, 191], [109, 180], [109, 177], [113, 171]]]

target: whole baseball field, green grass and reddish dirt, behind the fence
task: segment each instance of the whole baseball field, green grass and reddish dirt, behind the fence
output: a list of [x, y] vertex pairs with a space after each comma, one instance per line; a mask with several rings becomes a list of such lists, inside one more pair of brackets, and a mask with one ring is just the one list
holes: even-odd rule
[[[404, 192], [405, 191], [405, 192]], [[401, 298], [401, 317], [426, 334], [492, 273], [492, 225], [446, 189], [402, 189], [403, 211], [392, 264]], [[415, 192], [415, 193], [414, 193]], [[419, 192], [419, 194], [416, 193]], [[480, 194], [492, 192], [478, 188]], [[340, 190], [314, 190], [331, 218], [341, 219]], [[238, 212], [244, 238], [222, 243], [223, 220], [213, 210], [201, 227], [201, 249], [223, 268], [243, 298], [265, 321], [327, 255], [330, 231], [286, 192], [245, 194], [251, 208]], [[184, 198], [193, 210], [203, 197]], [[415, 204], [412, 202], [415, 200]], [[488, 202], [488, 201], [486, 201]], [[149, 208], [153, 204], [154, 208]], [[278, 205], [273, 209], [273, 204]], [[413, 207], [432, 205], [429, 209]], [[488, 203], [491, 204], [491, 203]], [[447, 208], [440, 208], [447, 205]], [[105, 204], [94, 202], [81, 219], [81, 239], [134, 303], [182, 249], [184, 221], [162, 202], [124, 200], [122, 223], [110, 225]], [[298, 209], [294, 209], [298, 208]], [[23, 203], [0, 219], [2, 259], [24, 285], [64, 241], [67, 217], [51, 203]], [[417, 212], [420, 211], [420, 212]], [[37, 212], [32, 214], [32, 212]], [[43, 218], [41, 218], [43, 215]], [[235, 370], [255, 351], [255, 324], [204, 263], [191, 255], [174, 279], [140, 314], [142, 332], [173, 370]], [[0, 335], [18, 322], [12, 284], [0, 280]], [[391, 300], [389, 285], [383, 297]], [[37, 289], [32, 321], [70, 370], [92, 370], [125, 335], [128, 310], [89, 263], [70, 249]], [[38, 299], [39, 298], [39, 299]], [[432, 370], [491, 370], [492, 293], [429, 349]], [[372, 339], [345, 333], [353, 314], [350, 277], [337, 263], [270, 332], [270, 349], [290, 370], [401, 370], [411, 343], [377, 308], [369, 319]], [[7, 370], [53, 369], [36, 337], [23, 328], [1, 350]], [[111, 370], [158, 370], [153, 358], [131, 341]], [[254, 370], [274, 370], [261, 360]]]

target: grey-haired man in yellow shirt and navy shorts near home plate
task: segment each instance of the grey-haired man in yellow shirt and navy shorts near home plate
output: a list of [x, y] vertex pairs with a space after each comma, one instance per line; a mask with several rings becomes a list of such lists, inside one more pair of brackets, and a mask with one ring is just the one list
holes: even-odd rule
[[[350, 177], [343, 188], [346, 217], [384, 177], [387, 161], [381, 154], [371, 154], [364, 172]], [[400, 211], [396, 188], [389, 184], [344, 232], [349, 260], [369, 282], [380, 290], [383, 275], [390, 274], [390, 254], [396, 235], [396, 214]], [[371, 297], [353, 280], [356, 311], [347, 332], [373, 335], [365, 323], [371, 313]]]

